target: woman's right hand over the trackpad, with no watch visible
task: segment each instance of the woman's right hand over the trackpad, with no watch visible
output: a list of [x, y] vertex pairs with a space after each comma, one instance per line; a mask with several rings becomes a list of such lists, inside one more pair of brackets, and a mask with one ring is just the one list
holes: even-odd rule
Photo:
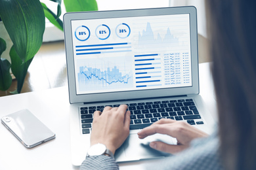
[[207, 137], [206, 133], [186, 122], [179, 122], [165, 118], [162, 118], [151, 126], [142, 129], [138, 135], [140, 139], [144, 139], [148, 135], [153, 135], [155, 133], [166, 134], [177, 139], [177, 145], [166, 144], [160, 141], [150, 143], [150, 147], [171, 154], [181, 152], [185, 148], [188, 148], [193, 139]]

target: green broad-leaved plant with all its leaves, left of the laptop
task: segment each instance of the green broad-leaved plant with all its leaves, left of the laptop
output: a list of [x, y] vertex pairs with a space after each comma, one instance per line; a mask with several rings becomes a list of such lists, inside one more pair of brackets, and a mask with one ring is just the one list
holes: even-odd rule
[[[59, 18], [61, 0], [49, 1], [58, 3], [56, 14], [39, 0], [0, 0], [0, 22], [5, 25], [13, 43], [9, 62], [1, 58], [7, 45], [0, 35], [0, 90], [8, 90], [11, 86], [11, 68], [17, 80], [17, 89], [12, 93], [21, 92], [28, 67], [43, 41], [45, 17], [63, 31], [63, 22]], [[64, 5], [67, 12], [98, 10], [95, 0], [64, 0]]]

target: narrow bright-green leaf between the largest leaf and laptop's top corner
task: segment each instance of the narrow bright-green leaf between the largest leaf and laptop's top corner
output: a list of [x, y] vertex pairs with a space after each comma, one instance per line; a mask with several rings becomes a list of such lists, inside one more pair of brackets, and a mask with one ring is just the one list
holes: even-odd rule
[[63, 31], [63, 22], [60, 20], [60, 18], [57, 18], [56, 14], [53, 13], [50, 9], [47, 8], [47, 6], [44, 3], [41, 3], [43, 7], [43, 11], [45, 12], [45, 17], [58, 29]]

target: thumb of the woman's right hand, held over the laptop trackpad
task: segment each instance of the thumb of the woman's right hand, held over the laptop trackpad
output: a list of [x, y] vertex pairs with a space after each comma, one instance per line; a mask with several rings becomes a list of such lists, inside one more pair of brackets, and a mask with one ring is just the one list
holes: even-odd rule
[[178, 152], [181, 152], [188, 146], [167, 144], [167, 143], [163, 143], [160, 141], [154, 141], [154, 142], [150, 143], [150, 147], [154, 148], [156, 150], [160, 150], [161, 152], [167, 152], [169, 154], [176, 154]]

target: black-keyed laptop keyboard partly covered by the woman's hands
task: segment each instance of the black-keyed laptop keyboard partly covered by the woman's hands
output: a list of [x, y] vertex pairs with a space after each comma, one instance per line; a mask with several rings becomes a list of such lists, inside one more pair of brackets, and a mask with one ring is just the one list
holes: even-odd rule
[[[130, 129], [142, 129], [161, 118], [183, 120], [191, 125], [203, 124], [193, 99], [126, 103], [126, 105], [128, 105], [127, 110], [131, 111]], [[102, 111], [106, 106], [119, 107], [119, 105], [100, 105], [80, 108], [83, 134], [91, 133], [93, 113], [96, 110]]]

